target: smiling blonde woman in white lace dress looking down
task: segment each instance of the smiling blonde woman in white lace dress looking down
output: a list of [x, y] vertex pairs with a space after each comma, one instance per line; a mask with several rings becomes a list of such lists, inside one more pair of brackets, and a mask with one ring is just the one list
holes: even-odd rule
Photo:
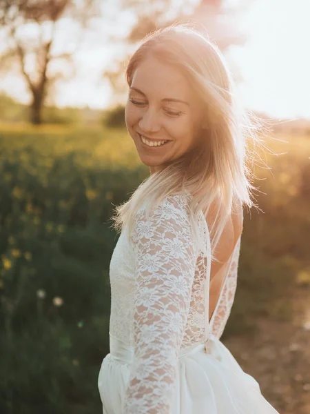
[[276, 414], [220, 342], [234, 302], [247, 138], [218, 48], [174, 25], [127, 66], [127, 130], [151, 175], [122, 206], [110, 263], [104, 414]]

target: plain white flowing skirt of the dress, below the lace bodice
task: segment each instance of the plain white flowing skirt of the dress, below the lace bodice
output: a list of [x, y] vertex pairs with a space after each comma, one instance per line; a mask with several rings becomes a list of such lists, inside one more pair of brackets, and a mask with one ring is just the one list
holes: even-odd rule
[[[123, 414], [134, 348], [110, 335], [110, 353], [99, 372], [103, 414]], [[228, 348], [213, 335], [206, 346], [178, 357], [176, 393], [169, 414], [279, 414]]]

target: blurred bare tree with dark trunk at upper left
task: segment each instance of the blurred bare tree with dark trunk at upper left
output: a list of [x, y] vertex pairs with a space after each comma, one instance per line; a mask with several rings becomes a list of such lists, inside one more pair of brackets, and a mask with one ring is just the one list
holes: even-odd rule
[[[96, 6], [92, 0], [0, 0], [0, 28], [7, 45], [0, 63], [2, 69], [17, 68], [23, 75], [32, 96], [33, 124], [41, 124], [45, 99], [64, 76], [65, 71], [59, 68], [72, 64], [83, 28], [96, 15]], [[68, 18], [78, 26], [80, 37], [74, 39], [73, 48], [70, 45], [68, 50], [57, 52], [56, 27]]]

